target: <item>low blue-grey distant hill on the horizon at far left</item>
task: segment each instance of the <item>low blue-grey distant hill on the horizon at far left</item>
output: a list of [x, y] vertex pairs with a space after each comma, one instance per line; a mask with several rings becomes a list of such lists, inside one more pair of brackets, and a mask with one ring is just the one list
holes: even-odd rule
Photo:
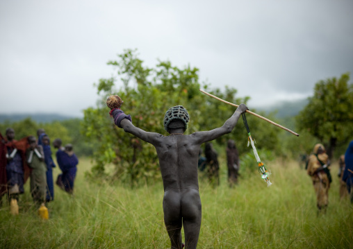
[[0, 114], [0, 123], [4, 121], [21, 121], [30, 117], [33, 121], [38, 123], [48, 123], [51, 121], [63, 121], [66, 119], [74, 119], [76, 117], [65, 116], [61, 114], [45, 114], [45, 113], [35, 113], [35, 114]]

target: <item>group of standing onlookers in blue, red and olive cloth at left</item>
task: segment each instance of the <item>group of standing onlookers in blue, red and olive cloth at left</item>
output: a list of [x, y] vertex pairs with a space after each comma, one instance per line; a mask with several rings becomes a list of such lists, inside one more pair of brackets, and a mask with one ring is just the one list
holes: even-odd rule
[[[17, 206], [19, 195], [24, 194], [24, 184], [30, 178], [31, 196], [36, 205], [54, 200], [54, 163], [49, 136], [44, 129], [34, 136], [15, 140], [15, 130], [7, 128], [6, 136], [0, 133], [0, 200], [7, 196], [11, 206]], [[62, 173], [58, 175], [56, 184], [60, 189], [72, 194], [79, 160], [74, 154], [71, 144], [62, 146], [61, 139], [53, 142], [56, 160]]]

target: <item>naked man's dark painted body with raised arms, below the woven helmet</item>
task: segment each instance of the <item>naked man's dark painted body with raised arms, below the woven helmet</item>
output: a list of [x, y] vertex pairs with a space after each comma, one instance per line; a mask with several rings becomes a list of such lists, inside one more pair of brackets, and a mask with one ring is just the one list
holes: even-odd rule
[[165, 137], [155, 132], [146, 132], [128, 119], [120, 126], [143, 141], [152, 144], [157, 151], [161, 168], [164, 198], [164, 222], [172, 243], [171, 248], [181, 248], [181, 227], [184, 227], [186, 248], [196, 248], [201, 226], [201, 199], [197, 178], [197, 160], [200, 146], [230, 133], [238, 119], [247, 109], [240, 104], [236, 112], [220, 128], [183, 135], [184, 128], [169, 128]]

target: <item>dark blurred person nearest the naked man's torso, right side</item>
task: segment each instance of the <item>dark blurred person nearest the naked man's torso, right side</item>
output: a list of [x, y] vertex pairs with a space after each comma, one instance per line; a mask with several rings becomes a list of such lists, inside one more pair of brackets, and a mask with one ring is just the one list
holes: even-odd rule
[[220, 184], [220, 164], [218, 164], [217, 152], [211, 143], [205, 144], [205, 156], [208, 180], [215, 187]]

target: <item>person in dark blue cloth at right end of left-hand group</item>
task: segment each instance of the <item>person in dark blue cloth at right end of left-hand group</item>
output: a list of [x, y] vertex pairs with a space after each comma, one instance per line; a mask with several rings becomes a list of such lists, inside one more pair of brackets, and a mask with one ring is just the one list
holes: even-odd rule
[[79, 159], [72, 151], [72, 144], [67, 144], [65, 150], [61, 149], [61, 140], [56, 139], [54, 144], [55, 148], [58, 148], [56, 152], [56, 161], [58, 162], [59, 168], [63, 171], [62, 174], [58, 175], [56, 184], [60, 189], [65, 190], [69, 194], [73, 194], [74, 191], [74, 180], [76, 178], [77, 164]]

